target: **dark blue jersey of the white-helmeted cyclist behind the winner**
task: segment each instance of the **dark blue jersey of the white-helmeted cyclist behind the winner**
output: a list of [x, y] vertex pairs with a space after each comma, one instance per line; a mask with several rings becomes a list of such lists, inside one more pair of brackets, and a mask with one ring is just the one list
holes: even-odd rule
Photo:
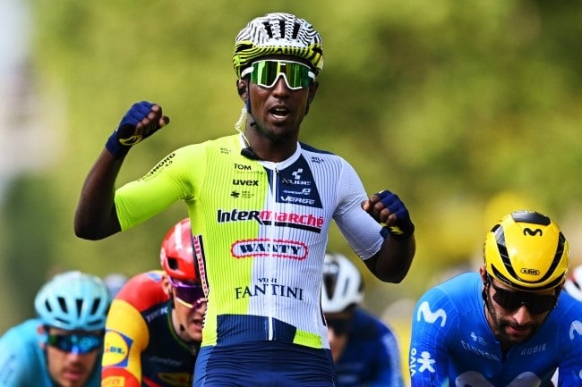
[[394, 333], [376, 316], [356, 308], [349, 339], [336, 362], [338, 387], [402, 387]]

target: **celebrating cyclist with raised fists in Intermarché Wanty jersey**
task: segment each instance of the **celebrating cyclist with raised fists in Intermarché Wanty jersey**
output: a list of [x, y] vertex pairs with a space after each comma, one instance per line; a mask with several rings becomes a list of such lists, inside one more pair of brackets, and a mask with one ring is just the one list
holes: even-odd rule
[[235, 38], [233, 62], [240, 133], [181, 147], [115, 189], [130, 148], [168, 122], [159, 105], [134, 104], [87, 176], [75, 232], [102, 239], [184, 201], [208, 292], [195, 385], [330, 386], [320, 292], [332, 219], [386, 282], [409, 270], [414, 224], [397, 195], [368, 198], [343, 158], [298, 142], [323, 65], [309, 22], [253, 19]]

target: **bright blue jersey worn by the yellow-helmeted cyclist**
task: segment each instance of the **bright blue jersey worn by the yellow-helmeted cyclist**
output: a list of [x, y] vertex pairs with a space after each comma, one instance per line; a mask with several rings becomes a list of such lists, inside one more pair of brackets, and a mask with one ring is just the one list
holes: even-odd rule
[[560, 387], [582, 385], [582, 308], [561, 292], [558, 305], [527, 341], [507, 353], [487, 323], [478, 273], [463, 273], [427, 291], [412, 322], [412, 387]]

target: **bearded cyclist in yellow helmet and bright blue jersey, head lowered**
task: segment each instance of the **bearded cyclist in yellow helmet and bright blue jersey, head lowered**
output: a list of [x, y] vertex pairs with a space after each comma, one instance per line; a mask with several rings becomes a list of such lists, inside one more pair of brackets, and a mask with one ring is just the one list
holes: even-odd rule
[[561, 292], [568, 241], [537, 212], [486, 234], [484, 265], [428, 290], [413, 315], [412, 387], [582, 385], [582, 308]]

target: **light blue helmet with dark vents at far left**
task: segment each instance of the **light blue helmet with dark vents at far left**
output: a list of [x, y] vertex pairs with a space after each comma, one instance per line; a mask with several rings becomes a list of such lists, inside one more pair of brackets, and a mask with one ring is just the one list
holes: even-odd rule
[[56, 274], [34, 299], [43, 324], [67, 331], [105, 328], [111, 300], [105, 283], [78, 271]]

